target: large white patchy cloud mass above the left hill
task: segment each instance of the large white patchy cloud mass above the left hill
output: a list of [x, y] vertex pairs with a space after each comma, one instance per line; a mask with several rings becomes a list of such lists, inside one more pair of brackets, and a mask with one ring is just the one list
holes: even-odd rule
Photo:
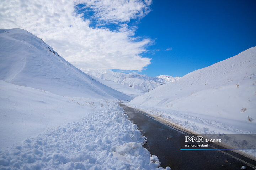
[[119, 23], [143, 17], [151, 4], [141, 0], [4, 0], [0, 4], [0, 28], [28, 30], [84, 71], [142, 70], [150, 64], [150, 59], [141, 54], [151, 39], [132, 37], [136, 27], [128, 28], [126, 23], [121, 23], [118, 31], [89, 27], [90, 21], [75, 13], [75, 5], [85, 2], [94, 6], [100, 20]]

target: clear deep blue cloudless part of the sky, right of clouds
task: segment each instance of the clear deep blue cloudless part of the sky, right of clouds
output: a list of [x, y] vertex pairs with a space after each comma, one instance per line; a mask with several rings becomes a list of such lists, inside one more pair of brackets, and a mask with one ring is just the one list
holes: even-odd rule
[[135, 31], [155, 40], [140, 74], [183, 76], [256, 46], [255, 0], [155, 0], [150, 8]]

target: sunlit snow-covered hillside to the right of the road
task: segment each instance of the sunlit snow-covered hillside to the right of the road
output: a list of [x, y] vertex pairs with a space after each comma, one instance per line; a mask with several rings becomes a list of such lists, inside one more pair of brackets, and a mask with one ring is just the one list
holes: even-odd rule
[[198, 134], [256, 134], [256, 47], [159, 86], [128, 105]]

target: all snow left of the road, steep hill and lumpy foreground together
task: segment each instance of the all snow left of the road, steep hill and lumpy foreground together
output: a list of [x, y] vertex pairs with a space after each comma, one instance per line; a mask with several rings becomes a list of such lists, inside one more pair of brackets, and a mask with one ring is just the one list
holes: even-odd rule
[[31, 33], [0, 30], [0, 79], [0, 169], [163, 169], [117, 104], [132, 97]]

